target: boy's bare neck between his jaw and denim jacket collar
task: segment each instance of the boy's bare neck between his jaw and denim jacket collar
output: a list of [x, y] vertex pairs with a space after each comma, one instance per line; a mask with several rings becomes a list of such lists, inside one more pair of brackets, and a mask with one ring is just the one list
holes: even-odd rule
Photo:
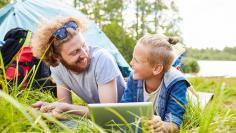
[[162, 78], [163, 78], [163, 75], [158, 75], [158, 76], [154, 76], [152, 78], [145, 80], [146, 91], [148, 93], [152, 93], [156, 91], [161, 84]]

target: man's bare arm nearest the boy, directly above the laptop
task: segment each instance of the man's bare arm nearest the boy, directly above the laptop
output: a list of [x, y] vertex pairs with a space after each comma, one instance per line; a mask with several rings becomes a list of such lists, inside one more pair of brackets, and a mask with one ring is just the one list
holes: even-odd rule
[[100, 103], [116, 103], [118, 95], [116, 79], [106, 84], [98, 85], [98, 95]]

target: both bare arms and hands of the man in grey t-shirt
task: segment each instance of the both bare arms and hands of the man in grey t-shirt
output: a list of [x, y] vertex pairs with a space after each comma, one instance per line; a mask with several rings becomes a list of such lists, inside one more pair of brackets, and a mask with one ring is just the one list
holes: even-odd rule
[[[104, 85], [98, 85], [98, 94], [101, 103], [117, 102], [117, 87], [116, 79]], [[60, 102], [46, 103], [39, 101], [32, 106], [40, 109], [42, 112], [50, 112], [56, 118], [63, 118], [61, 113], [71, 112], [76, 115], [85, 115], [89, 117], [88, 107], [71, 104], [71, 92], [65, 86], [57, 86], [57, 96]], [[68, 104], [69, 103], [69, 104]]]

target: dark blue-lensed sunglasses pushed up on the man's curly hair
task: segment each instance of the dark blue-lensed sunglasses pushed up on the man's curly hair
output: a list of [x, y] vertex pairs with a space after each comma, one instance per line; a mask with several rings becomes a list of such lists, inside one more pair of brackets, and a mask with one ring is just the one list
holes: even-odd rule
[[57, 31], [53, 33], [53, 36], [56, 39], [63, 40], [67, 37], [68, 31], [66, 30], [67, 28], [72, 28], [76, 30], [78, 28], [78, 25], [74, 21], [70, 21], [64, 24], [61, 28], [59, 28]]

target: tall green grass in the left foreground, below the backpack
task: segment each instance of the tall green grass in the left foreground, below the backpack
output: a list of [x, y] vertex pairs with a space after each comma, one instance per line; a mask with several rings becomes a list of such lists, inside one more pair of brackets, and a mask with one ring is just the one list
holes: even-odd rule
[[[38, 65], [39, 66], [39, 65]], [[74, 123], [80, 125], [78, 128], [71, 129], [68, 125], [56, 120], [48, 114], [44, 114], [31, 107], [36, 101], [42, 100], [54, 102], [56, 98], [48, 90], [41, 88], [33, 88], [33, 83], [36, 82], [38, 66], [34, 66], [25, 77], [22, 83], [18, 84], [18, 79], [13, 82], [6, 80], [3, 58], [0, 54], [0, 131], [1, 132], [71, 132], [85, 131], [91, 132], [88, 121], [84, 118], [73, 117]], [[28, 80], [26, 88], [22, 89], [22, 84]], [[77, 101], [79, 101], [77, 99]], [[74, 119], [76, 118], [76, 119]], [[83, 119], [83, 120], [82, 120]]]

